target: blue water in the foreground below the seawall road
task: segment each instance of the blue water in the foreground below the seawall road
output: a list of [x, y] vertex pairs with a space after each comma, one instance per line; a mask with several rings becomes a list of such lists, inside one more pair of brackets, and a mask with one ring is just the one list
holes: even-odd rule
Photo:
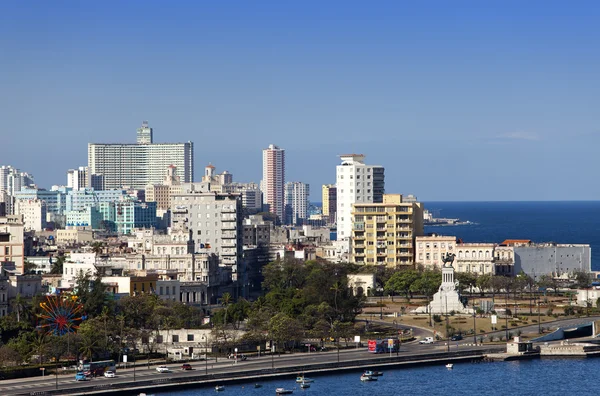
[[[381, 368], [378, 368], [381, 370]], [[360, 372], [311, 376], [315, 382], [300, 389], [294, 378], [226, 385], [223, 395], [275, 395], [282, 387], [294, 395], [544, 395], [564, 396], [595, 394], [600, 359], [536, 359], [494, 363], [458, 363], [453, 369], [443, 364], [428, 367], [384, 369], [377, 381], [362, 383]], [[156, 396], [197, 396], [215, 394], [205, 387], [177, 392], [160, 392]]]

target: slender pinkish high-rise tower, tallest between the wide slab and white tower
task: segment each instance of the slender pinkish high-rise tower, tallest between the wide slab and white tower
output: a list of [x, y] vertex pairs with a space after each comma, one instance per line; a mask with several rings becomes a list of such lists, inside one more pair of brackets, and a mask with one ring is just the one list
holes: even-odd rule
[[284, 221], [285, 150], [271, 144], [263, 150], [263, 201], [279, 221]]

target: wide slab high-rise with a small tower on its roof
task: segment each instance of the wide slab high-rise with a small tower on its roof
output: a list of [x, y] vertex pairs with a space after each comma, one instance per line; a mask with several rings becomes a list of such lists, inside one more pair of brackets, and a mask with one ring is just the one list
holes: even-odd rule
[[147, 123], [138, 129], [137, 136], [135, 144], [88, 144], [88, 171], [103, 177], [104, 189], [143, 189], [148, 184], [159, 184], [169, 165], [177, 167], [182, 182], [193, 181], [192, 142], [152, 143], [152, 128]]

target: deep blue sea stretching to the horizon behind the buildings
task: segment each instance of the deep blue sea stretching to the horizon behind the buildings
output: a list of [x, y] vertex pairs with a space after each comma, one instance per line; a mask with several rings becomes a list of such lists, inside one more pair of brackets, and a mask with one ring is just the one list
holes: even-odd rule
[[592, 249], [592, 270], [600, 271], [600, 201], [425, 202], [434, 217], [470, 224], [426, 226], [426, 233], [453, 235], [463, 242], [530, 239], [583, 243]]

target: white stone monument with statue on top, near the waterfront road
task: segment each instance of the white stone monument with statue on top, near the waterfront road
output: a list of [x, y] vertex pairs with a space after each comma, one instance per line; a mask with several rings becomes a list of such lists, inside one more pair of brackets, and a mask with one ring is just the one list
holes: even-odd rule
[[415, 313], [449, 314], [454, 311], [457, 314], [473, 314], [473, 309], [465, 307], [460, 301], [458, 293], [458, 282], [454, 281], [454, 262], [455, 255], [447, 253], [442, 257], [444, 265], [442, 266], [442, 284], [437, 293], [433, 295], [433, 300], [429, 305], [417, 308]]

